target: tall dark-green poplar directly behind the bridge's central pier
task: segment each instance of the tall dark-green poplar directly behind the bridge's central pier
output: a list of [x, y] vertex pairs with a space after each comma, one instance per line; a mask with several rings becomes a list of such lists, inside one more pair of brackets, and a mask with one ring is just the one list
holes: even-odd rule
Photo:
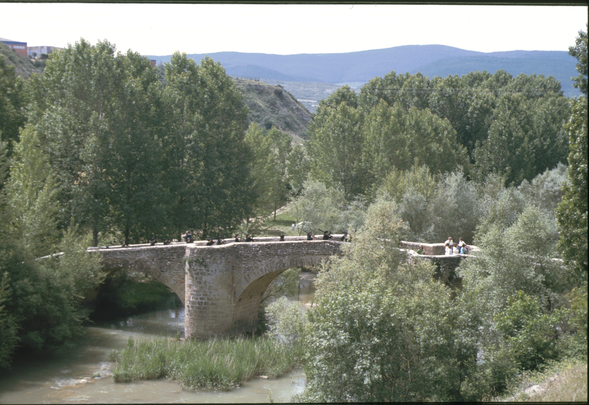
[[176, 52], [166, 64], [169, 134], [164, 138], [173, 229], [203, 237], [226, 233], [250, 217], [249, 156], [244, 153], [247, 107], [225, 69]]

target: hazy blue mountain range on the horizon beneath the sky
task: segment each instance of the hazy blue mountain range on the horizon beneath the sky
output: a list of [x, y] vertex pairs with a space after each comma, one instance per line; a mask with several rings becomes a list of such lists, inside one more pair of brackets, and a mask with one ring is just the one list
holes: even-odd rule
[[[207, 54], [188, 54], [197, 62]], [[568, 97], [581, 94], [571, 86], [577, 76], [577, 59], [567, 51], [506, 51], [477, 52], [445, 45], [403, 45], [345, 54], [249, 54], [244, 52], [213, 52], [208, 54], [221, 62], [229, 75], [250, 76], [290, 82], [352, 83], [367, 82], [373, 77], [397, 73], [416, 73], [434, 77], [464, 75], [471, 71], [498, 69], [517, 76], [554, 76], [561, 82]], [[169, 62], [171, 55], [147, 55], [157, 64]]]

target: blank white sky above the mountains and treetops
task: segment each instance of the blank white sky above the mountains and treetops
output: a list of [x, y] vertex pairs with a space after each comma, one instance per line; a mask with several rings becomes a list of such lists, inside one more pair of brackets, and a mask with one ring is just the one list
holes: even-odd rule
[[[399, 45], [568, 51], [587, 6], [39, 4], [0, 0], [0, 37], [65, 47], [108, 39], [144, 55], [319, 54]], [[10, 16], [14, 16], [11, 18]]]

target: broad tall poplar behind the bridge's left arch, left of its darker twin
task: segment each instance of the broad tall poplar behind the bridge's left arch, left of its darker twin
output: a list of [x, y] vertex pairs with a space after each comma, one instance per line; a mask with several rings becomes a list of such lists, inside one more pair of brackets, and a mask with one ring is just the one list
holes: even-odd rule
[[163, 125], [160, 85], [147, 58], [81, 39], [52, 55], [44, 75], [29, 84], [29, 123], [60, 174], [61, 226], [75, 217], [90, 229], [93, 245], [113, 229], [129, 241], [148, 237], [163, 216]]

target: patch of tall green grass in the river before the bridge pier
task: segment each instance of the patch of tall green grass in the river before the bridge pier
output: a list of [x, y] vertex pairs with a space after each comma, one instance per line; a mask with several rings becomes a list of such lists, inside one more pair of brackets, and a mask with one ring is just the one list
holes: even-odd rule
[[167, 340], [135, 342], [112, 351], [115, 382], [177, 380], [184, 389], [230, 390], [255, 376], [276, 377], [302, 364], [302, 343], [284, 344], [274, 338], [223, 338], [209, 341]]

